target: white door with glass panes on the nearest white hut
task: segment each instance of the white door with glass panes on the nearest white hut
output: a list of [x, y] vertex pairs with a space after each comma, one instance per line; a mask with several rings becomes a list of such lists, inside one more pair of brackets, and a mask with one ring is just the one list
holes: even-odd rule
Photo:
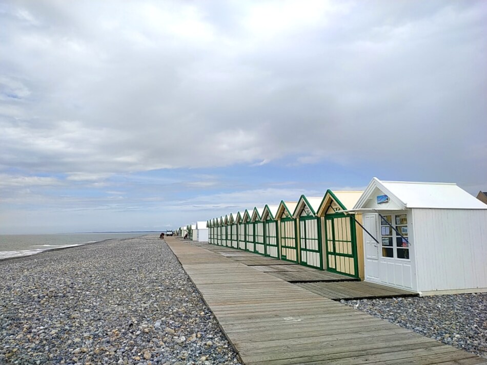
[[416, 290], [412, 246], [406, 212], [381, 213], [379, 217], [380, 282]]

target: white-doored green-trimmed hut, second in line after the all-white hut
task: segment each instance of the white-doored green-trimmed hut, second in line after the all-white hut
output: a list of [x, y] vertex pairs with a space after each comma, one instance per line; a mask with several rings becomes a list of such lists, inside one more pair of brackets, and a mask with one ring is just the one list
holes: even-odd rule
[[321, 220], [316, 212], [323, 197], [301, 195], [293, 213], [299, 222], [299, 263], [316, 269], [323, 269], [321, 244]]

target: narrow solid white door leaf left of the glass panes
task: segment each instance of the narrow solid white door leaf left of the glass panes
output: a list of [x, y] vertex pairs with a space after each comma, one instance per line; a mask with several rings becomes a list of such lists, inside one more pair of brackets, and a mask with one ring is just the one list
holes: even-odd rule
[[[380, 282], [379, 245], [377, 235], [377, 214], [364, 214], [363, 226], [370, 233], [363, 232], [364, 251], [366, 252], [365, 276], [367, 281]], [[373, 238], [371, 237], [373, 236]], [[374, 240], [375, 238], [375, 240]]]

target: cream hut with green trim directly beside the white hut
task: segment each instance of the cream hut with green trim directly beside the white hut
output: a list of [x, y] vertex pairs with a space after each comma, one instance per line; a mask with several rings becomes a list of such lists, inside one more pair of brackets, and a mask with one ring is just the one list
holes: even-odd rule
[[323, 235], [324, 267], [338, 274], [363, 276], [362, 224], [360, 213], [343, 213], [351, 209], [363, 191], [327, 190], [317, 216], [320, 217]]

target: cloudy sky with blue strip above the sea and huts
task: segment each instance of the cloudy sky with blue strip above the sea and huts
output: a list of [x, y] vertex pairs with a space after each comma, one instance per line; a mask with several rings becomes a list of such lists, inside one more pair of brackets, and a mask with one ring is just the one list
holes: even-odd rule
[[0, 233], [487, 190], [487, 2], [0, 3]]

